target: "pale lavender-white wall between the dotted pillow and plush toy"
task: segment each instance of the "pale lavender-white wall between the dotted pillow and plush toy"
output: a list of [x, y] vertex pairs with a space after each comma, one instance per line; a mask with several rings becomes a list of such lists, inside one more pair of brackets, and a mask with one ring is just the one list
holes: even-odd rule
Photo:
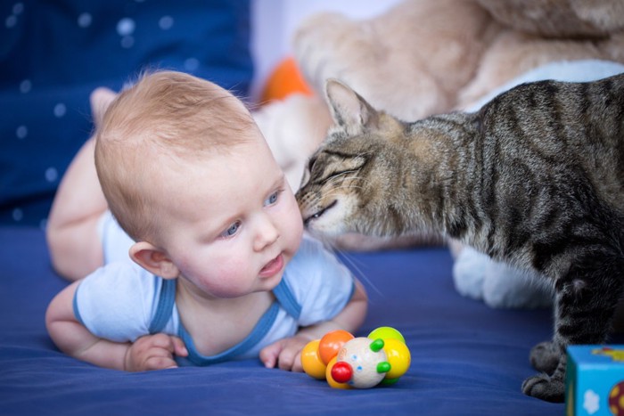
[[316, 12], [341, 12], [367, 19], [399, 0], [252, 0], [251, 53], [256, 71], [252, 98], [257, 98], [268, 74], [291, 52], [291, 36], [300, 21]]

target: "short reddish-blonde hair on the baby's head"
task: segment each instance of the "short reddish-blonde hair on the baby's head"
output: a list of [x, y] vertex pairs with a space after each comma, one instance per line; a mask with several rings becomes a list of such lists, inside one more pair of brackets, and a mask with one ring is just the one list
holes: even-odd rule
[[156, 182], [248, 141], [251, 127], [249, 111], [220, 86], [175, 71], [144, 74], [96, 132], [95, 167], [112, 215], [135, 241], [150, 241], [162, 198]]

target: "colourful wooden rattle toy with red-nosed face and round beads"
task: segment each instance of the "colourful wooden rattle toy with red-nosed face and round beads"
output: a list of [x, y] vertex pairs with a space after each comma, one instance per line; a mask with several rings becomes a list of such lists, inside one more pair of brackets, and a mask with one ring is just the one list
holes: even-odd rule
[[303, 371], [312, 378], [326, 379], [334, 388], [394, 384], [411, 361], [403, 335], [388, 326], [373, 330], [366, 338], [333, 330], [301, 351]]

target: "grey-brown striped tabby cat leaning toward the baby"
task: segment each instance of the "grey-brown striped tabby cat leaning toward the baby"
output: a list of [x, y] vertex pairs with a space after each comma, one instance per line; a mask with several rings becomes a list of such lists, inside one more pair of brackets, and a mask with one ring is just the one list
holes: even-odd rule
[[624, 74], [542, 81], [475, 113], [404, 122], [336, 80], [334, 126], [297, 192], [309, 231], [441, 232], [541, 273], [554, 336], [522, 391], [562, 402], [570, 344], [605, 341], [624, 286]]

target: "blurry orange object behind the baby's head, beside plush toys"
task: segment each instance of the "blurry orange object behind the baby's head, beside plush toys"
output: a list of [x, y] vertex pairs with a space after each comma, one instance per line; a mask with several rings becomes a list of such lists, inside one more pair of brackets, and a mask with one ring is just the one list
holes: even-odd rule
[[289, 56], [277, 64], [269, 75], [267, 84], [260, 95], [260, 103], [283, 100], [293, 93], [314, 94], [301, 75], [297, 62]]

